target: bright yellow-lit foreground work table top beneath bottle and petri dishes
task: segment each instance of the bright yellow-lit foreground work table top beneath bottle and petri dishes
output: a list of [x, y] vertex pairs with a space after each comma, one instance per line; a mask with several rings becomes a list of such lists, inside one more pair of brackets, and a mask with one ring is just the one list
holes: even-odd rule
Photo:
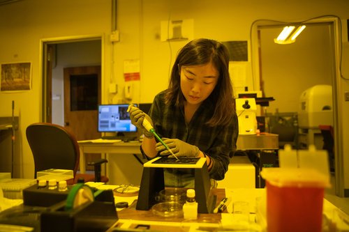
[[[124, 231], [131, 229], [147, 229], [148, 231], [267, 231], [266, 218], [266, 191], [262, 188], [237, 188], [213, 189], [217, 195], [216, 206], [228, 196], [231, 198], [223, 213], [198, 214], [197, 219], [164, 218], [158, 217], [151, 210], [136, 210], [136, 201], [128, 208], [119, 210], [118, 221], [107, 232]], [[119, 198], [117, 197], [117, 201]], [[239, 212], [235, 212], [234, 205], [247, 203], [247, 219], [242, 219]], [[244, 212], [243, 212], [244, 213]], [[332, 203], [323, 199], [322, 206], [322, 231], [331, 231], [332, 226], [337, 226], [338, 231], [347, 231], [348, 219], [343, 211]], [[335, 225], [334, 225], [335, 224]]]

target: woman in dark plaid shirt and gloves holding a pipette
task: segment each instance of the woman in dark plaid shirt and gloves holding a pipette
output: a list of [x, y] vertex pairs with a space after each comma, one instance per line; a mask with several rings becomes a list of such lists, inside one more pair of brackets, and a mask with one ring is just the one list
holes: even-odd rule
[[[144, 132], [144, 155], [173, 157], [145, 130], [147, 118], [176, 157], [206, 157], [210, 178], [223, 180], [238, 136], [228, 66], [228, 49], [216, 40], [193, 40], [179, 51], [168, 89], [156, 95], [149, 116], [130, 108], [132, 123]], [[165, 169], [164, 177], [167, 187], [194, 187], [192, 169]]]

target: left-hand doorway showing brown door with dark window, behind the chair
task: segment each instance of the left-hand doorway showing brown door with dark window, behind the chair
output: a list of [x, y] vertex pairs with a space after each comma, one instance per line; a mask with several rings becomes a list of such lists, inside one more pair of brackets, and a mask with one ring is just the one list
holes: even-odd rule
[[[101, 104], [102, 36], [62, 38], [61, 40], [55, 38], [42, 41], [42, 46], [42, 121], [66, 127], [77, 140], [101, 137], [97, 130], [96, 116], [97, 106]], [[65, 75], [66, 77], [64, 77]], [[73, 98], [70, 98], [70, 82], [75, 83], [73, 88], [76, 91], [73, 91]], [[93, 100], [87, 101], [89, 96], [84, 95], [84, 92], [91, 86], [94, 88], [95, 96]], [[73, 108], [70, 100], [73, 100]], [[93, 102], [94, 105], [82, 106], [87, 102]], [[87, 162], [96, 159], [95, 155], [88, 155]], [[90, 167], [87, 168], [90, 169]]]

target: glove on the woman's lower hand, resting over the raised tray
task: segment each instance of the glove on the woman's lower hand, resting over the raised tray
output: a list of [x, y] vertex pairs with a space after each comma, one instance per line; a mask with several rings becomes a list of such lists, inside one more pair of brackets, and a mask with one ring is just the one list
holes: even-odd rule
[[[177, 157], [186, 156], [186, 157], [199, 157], [200, 150], [197, 146], [193, 146], [191, 144], [187, 144], [180, 139], [168, 139], [162, 138], [163, 142], [172, 150], [174, 155]], [[156, 144], [156, 150], [160, 152], [160, 155], [170, 155], [172, 157], [170, 151], [168, 151], [163, 144], [160, 142]]]

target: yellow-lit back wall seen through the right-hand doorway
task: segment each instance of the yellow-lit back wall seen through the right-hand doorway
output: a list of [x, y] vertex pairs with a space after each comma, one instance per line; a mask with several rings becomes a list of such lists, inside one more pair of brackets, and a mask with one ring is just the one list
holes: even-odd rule
[[332, 85], [334, 54], [328, 26], [307, 26], [297, 41], [278, 45], [279, 28], [261, 30], [262, 79], [266, 97], [274, 97], [269, 113], [299, 111], [303, 91], [317, 84]]

